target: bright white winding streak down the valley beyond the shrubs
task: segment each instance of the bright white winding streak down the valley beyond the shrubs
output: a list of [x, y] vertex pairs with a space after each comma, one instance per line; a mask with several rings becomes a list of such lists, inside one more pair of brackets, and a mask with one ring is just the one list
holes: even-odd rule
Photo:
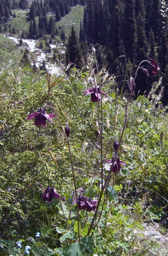
[[[8, 38], [13, 40], [16, 44], [18, 44], [19, 41], [20, 41], [19, 38], [16, 38], [16, 37], [13, 37], [13, 36], [8, 36]], [[41, 65], [41, 62], [43, 60], [45, 60], [45, 61], [47, 60], [47, 58], [46, 58], [47, 54], [35, 47], [36, 43], [38, 42], [37, 40], [22, 39], [22, 41], [23, 41], [23, 43], [27, 44], [27, 46], [28, 46], [27, 48], [30, 52], [36, 52], [37, 54], [39, 54], [37, 56], [36, 63], [35, 63], [36, 67], [39, 68], [40, 65]], [[51, 49], [53, 49], [53, 48], [56, 48], [57, 46], [55, 44], [50, 44], [50, 47], [51, 47]], [[61, 53], [64, 53], [64, 51], [62, 51]], [[32, 65], [33, 65], [33, 63], [32, 63]], [[47, 63], [45, 66], [46, 66], [46, 69], [48, 70], [48, 72], [51, 73], [52, 75], [55, 75], [55, 76], [63, 75], [62, 69], [60, 67], [56, 66], [55, 64]]]

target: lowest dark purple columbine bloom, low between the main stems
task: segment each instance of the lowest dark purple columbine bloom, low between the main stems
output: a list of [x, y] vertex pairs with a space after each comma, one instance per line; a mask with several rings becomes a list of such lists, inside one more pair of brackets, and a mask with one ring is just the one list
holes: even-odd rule
[[[96, 211], [96, 204], [97, 201], [92, 201], [91, 198], [86, 196], [79, 196], [78, 197], [78, 207], [79, 210], [86, 210], [87, 212], [91, 212], [93, 210]], [[73, 202], [73, 204], [76, 204], [76, 200]]]

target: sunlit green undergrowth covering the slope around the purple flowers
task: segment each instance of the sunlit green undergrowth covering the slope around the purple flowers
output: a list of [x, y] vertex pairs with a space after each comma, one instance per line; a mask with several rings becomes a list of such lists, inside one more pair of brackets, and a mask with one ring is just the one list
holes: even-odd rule
[[[119, 140], [122, 132], [129, 92], [119, 95], [115, 77], [103, 70], [99, 75], [102, 90], [108, 95], [102, 100], [103, 152], [113, 136], [106, 155], [112, 159], [113, 141]], [[128, 104], [127, 125], [118, 152], [127, 166], [118, 173], [115, 190], [108, 190], [102, 217], [90, 236], [87, 232], [93, 213], [79, 210], [79, 244], [69, 149], [59, 120], [55, 116], [47, 126], [35, 126], [32, 120], [26, 120], [30, 113], [50, 105], [63, 127], [68, 122], [78, 194], [82, 189], [84, 196], [97, 201], [101, 189], [97, 102], [81, 92], [90, 87], [88, 78], [94, 76], [91, 62], [60, 78], [37, 75], [30, 68], [2, 69], [0, 255], [166, 255], [161, 251], [165, 248], [166, 253], [166, 244], [142, 235], [143, 222], [168, 225], [168, 117], [152, 85], [148, 97], [139, 96]], [[53, 113], [52, 108], [46, 110]], [[109, 164], [104, 164], [104, 179], [108, 172]], [[110, 186], [114, 179], [112, 172]], [[41, 200], [48, 186], [55, 187], [61, 199], [64, 197], [61, 204], [56, 198], [50, 203]]]

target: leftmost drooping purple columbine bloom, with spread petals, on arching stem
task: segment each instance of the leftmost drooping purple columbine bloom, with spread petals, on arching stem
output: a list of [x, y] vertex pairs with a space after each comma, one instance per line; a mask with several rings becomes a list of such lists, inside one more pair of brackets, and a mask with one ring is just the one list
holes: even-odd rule
[[35, 125], [43, 125], [45, 126], [46, 125], [46, 120], [48, 120], [50, 123], [51, 122], [51, 118], [53, 118], [55, 116], [55, 114], [47, 114], [46, 113], [46, 110], [43, 109], [43, 108], [39, 108], [37, 110], [38, 112], [34, 112], [32, 114], [30, 114], [28, 117], [27, 117], [27, 120], [30, 120], [32, 118], [35, 118]]

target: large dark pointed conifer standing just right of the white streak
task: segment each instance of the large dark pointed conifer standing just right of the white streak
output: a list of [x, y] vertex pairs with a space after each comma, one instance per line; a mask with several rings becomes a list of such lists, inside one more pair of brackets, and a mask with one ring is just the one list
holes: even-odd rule
[[68, 65], [69, 62], [77, 65], [77, 68], [80, 68], [81, 66], [81, 51], [76, 31], [73, 26], [71, 27], [66, 49], [66, 64]]

